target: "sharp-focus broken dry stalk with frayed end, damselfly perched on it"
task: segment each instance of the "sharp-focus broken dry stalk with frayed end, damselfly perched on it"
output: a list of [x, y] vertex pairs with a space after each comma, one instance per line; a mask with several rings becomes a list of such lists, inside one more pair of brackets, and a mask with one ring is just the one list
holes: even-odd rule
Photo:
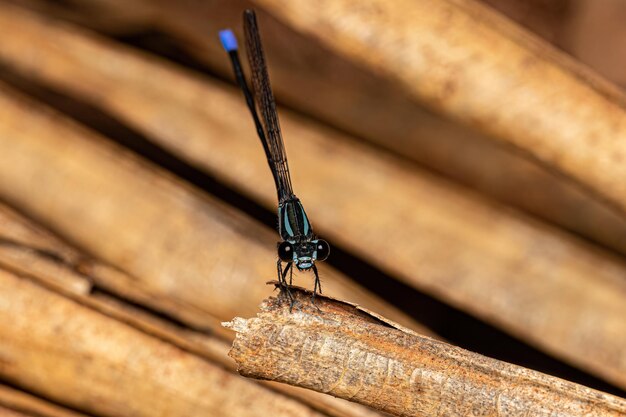
[[625, 416], [626, 400], [418, 335], [380, 316], [293, 289], [237, 332], [248, 377], [349, 399], [396, 416]]

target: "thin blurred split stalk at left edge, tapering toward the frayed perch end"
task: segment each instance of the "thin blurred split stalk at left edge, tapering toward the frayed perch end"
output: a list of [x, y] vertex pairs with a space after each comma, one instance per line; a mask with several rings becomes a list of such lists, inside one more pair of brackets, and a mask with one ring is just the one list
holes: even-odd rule
[[230, 332], [210, 313], [150, 291], [134, 277], [78, 251], [15, 210], [0, 204], [0, 265], [68, 295], [105, 290], [169, 315], [191, 329], [221, 335]]

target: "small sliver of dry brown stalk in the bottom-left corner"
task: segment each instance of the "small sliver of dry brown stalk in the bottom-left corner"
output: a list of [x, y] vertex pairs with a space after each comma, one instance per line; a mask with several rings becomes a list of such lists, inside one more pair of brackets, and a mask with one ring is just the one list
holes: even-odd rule
[[0, 384], [0, 415], [3, 417], [13, 415], [5, 414], [6, 410], [13, 410], [17, 413], [16, 415], [20, 416], [86, 417], [85, 414], [68, 410], [26, 392]]

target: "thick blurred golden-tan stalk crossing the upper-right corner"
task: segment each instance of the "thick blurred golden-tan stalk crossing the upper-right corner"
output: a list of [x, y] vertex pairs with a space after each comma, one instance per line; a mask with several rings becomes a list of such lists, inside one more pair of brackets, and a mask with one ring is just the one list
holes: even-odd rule
[[626, 97], [503, 16], [473, 0], [257, 3], [626, 216]]

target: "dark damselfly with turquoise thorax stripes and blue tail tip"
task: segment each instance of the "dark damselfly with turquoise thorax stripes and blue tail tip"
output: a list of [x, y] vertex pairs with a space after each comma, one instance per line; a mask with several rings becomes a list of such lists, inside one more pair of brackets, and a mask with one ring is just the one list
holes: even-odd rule
[[[315, 284], [313, 286], [313, 299], [315, 299], [317, 290], [319, 289], [319, 292], [322, 292], [315, 261], [325, 260], [330, 253], [330, 246], [325, 240], [318, 239], [313, 233], [304, 207], [302, 207], [302, 203], [293, 193], [291, 187], [287, 155], [280, 133], [276, 103], [270, 87], [254, 11], [246, 10], [244, 12], [243, 27], [248, 62], [252, 71], [254, 95], [250, 92], [243, 75], [235, 35], [230, 30], [222, 30], [219, 35], [222, 46], [230, 56], [237, 84], [241, 87], [250, 113], [252, 113], [256, 131], [261, 139], [270, 170], [274, 176], [274, 183], [278, 193], [278, 233], [282, 239], [282, 242], [278, 243], [278, 280], [286, 288], [286, 292], [291, 298], [291, 293], [287, 286], [287, 274], [289, 274], [289, 285], [291, 285], [294, 266], [301, 271], [312, 269], [315, 274]], [[262, 120], [257, 113], [257, 106]], [[284, 269], [282, 267], [283, 262], [286, 263]]]

